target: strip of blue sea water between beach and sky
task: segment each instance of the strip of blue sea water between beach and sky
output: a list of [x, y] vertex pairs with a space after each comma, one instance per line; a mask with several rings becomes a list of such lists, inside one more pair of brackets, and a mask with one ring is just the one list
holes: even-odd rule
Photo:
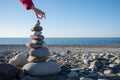
[[[76, 44], [120, 44], [120, 38], [45, 38], [45, 44], [76, 45]], [[30, 38], [0, 38], [0, 45], [31, 43]]]

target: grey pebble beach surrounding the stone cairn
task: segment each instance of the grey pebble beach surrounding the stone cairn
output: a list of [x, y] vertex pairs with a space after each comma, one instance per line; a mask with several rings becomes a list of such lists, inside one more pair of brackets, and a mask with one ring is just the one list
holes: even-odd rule
[[[120, 45], [44, 45], [49, 49], [48, 62], [56, 62], [61, 72], [48, 76], [19, 74], [15, 80], [119, 80]], [[7, 63], [17, 54], [29, 54], [25, 45], [0, 45]], [[1, 55], [1, 56], [2, 56]]]

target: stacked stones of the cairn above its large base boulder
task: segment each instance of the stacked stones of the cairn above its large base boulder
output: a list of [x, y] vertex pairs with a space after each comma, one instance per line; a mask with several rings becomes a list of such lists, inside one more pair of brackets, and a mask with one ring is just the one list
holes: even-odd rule
[[45, 62], [49, 56], [49, 50], [46, 47], [43, 47], [44, 36], [42, 35], [43, 28], [40, 25], [39, 20], [32, 28], [33, 34], [30, 36], [32, 43], [27, 43], [26, 46], [31, 48], [29, 52], [28, 61], [29, 62]]

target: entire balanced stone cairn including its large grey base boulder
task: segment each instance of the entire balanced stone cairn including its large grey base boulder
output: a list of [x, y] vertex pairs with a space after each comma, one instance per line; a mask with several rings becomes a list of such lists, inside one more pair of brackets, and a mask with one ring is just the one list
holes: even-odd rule
[[33, 76], [51, 75], [56, 74], [61, 71], [61, 67], [57, 63], [46, 62], [49, 56], [49, 50], [43, 47], [44, 36], [42, 34], [42, 27], [39, 26], [40, 22], [37, 21], [33, 27], [32, 43], [27, 43], [26, 46], [31, 48], [29, 52], [28, 61], [30, 63], [23, 66], [23, 69], [27, 71], [28, 74]]

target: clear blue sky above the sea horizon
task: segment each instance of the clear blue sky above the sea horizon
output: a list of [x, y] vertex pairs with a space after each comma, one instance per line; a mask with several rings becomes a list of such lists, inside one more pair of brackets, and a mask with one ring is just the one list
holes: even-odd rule
[[[120, 0], [33, 0], [45, 37], [120, 37]], [[0, 38], [29, 37], [38, 19], [19, 0], [0, 0]]]

